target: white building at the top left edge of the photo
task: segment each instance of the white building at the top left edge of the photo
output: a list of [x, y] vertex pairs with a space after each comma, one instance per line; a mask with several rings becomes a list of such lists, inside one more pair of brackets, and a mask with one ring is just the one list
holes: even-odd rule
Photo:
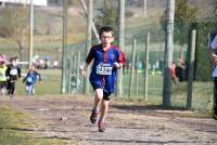
[[[38, 6], [47, 6], [48, 5], [48, 0], [33, 0], [34, 5]], [[30, 0], [0, 0], [0, 3], [2, 5], [5, 5], [7, 3], [9, 4], [29, 4]]]

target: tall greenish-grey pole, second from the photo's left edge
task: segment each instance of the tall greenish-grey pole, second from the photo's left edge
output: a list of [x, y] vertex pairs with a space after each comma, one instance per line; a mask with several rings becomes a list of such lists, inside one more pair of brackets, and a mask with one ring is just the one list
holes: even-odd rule
[[63, 40], [62, 40], [62, 85], [61, 93], [66, 93], [66, 45], [67, 45], [67, 0], [63, 0]]

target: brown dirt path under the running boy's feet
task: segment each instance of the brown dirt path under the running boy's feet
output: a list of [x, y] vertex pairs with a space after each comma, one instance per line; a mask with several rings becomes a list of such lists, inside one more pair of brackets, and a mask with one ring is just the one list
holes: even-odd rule
[[78, 145], [214, 145], [217, 144], [217, 121], [181, 117], [191, 111], [161, 110], [148, 106], [119, 104], [112, 101], [106, 131], [98, 132], [89, 121], [92, 98], [66, 96], [22, 96], [0, 104], [36, 117], [29, 131], [42, 137], [66, 140]]

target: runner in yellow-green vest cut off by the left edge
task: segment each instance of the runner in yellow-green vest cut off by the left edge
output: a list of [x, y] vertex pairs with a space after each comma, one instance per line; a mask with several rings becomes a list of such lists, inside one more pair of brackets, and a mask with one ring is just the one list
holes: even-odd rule
[[5, 94], [7, 88], [7, 58], [0, 54], [0, 94]]

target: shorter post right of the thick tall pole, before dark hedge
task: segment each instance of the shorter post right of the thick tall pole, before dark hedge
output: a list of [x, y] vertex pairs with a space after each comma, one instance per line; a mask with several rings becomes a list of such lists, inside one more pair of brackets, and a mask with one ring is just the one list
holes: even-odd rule
[[196, 30], [191, 31], [191, 44], [190, 44], [190, 58], [188, 69], [188, 95], [187, 95], [187, 108], [190, 109], [192, 105], [192, 85], [193, 85], [193, 71], [194, 71], [194, 54], [196, 43]]

